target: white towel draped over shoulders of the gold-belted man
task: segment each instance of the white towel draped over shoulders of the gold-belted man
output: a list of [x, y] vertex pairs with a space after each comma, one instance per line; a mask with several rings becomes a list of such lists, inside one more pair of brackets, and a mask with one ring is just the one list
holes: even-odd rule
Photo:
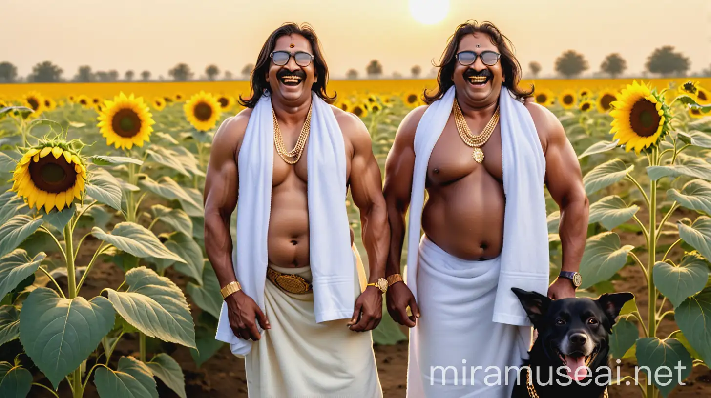
[[[309, 254], [316, 322], [350, 318], [355, 286], [351, 231], [346, 210], [346, 149], [331, 106], [316, 93], [311, 100], [311, 131], [307, 144], [309, 176]], [[267, 275], [267, 232], [272, 204], [274, 124], [272, 100], [263, 95], [252, 110], [238, 157], [240, 194], [237, 236], [232, 264], [247, 296], [264, 310]], [[260, 328], [260, 333], [264, 330]], [[230, 343], [232, 353], [247, 355], [252, 340], [237, 338], [230, 328], [227, 304], [220, 311], [215, 338]]]

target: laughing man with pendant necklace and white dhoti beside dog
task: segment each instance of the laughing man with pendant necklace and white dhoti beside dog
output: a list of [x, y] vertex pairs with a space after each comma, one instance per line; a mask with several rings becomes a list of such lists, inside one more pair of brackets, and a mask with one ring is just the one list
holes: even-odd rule
[[[506, 367], [522, 365], [532, 335], [511, 288], [557, 299], [580, 284], [580, 166], [555, 115], [518, 87], [509, 44], [491, 23], [458, 26], [439, 87], [402, 120], [387, 156], [387, 310], [412, 328], [408, 398], [510, 397], [518, 377]], [[560, 206], [563, 251], [550, 286], [544, 184]]]

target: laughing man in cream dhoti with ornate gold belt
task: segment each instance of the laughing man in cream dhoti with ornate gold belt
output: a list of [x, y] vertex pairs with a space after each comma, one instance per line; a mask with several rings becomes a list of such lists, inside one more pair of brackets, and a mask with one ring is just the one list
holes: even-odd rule
[[224, 298], [216, 338], [245, 358], [250, 397], [383, 397], [370, 331], [383, 312], [390, 242], [380, 168], [365, 124], [331, 105], [327, 82], [311, 27], [277, 28], [252, 71], [252, 96], [240, 97], [247, 109], [223, 122], [210, 152], [205, 249]]

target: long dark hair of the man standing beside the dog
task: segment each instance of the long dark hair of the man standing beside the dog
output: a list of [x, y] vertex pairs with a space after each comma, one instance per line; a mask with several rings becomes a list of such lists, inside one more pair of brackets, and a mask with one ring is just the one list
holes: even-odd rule
[[444, 97], [444, 93], [449, 90], [449, 87], [454, 85], [452, 74], [458, 62], [456, 58], [454, 58], [454, 55], [456, 55], [456, 50], [459, 47], [461, 38], [472, 33], [486, 33], [488, 36], [491, 36], [491, 40], [496, 44], [498, 52], [501, 54], [499, 62], [501, 62], [503, 77], [504, 80], [506, 80], [502, 85], [508, 88], [516, 99], [520, 101], [533, 95], [533, 85], [531, 85], [530, 91], [525, 91], [518, 87], [518, 82], [520, 82], [521, 79], [521, 65], [518, 63], [516, 56], [513, 55], [513, 44], [511, 44], [506, 36], [501, 34], [493, 23], [484, 21], [479, 25], [474, 19], [470, 19], [466, 21], [466, 23], [457, 26], [454, 34], [449, 36], [447, 48], [444, 49], [439, 64], [434, 64], [434, 66], [439, 68], [439, 73], [437, 74], [438, 87], [432, 94], [427, 94], [427, 90], [422, 92], [424, 103], [432, 104], [432, 102], [437, 101], [437, 99]]

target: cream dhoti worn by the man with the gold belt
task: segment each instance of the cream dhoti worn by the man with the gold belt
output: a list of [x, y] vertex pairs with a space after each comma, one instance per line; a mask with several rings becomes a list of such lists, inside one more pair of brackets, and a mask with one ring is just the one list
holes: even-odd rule
[[[355, 248], [354, 259], [360, 292], [366, 278]], [[269, 267], [311, 281], [311, 267]], [[353, 332], [348, 319], [316, 323], [313, 293], [292, 294], [270, 281], [264, 314], [272, 328], [245, 357], [250, 398], [383, 397], [370, 331]]]

